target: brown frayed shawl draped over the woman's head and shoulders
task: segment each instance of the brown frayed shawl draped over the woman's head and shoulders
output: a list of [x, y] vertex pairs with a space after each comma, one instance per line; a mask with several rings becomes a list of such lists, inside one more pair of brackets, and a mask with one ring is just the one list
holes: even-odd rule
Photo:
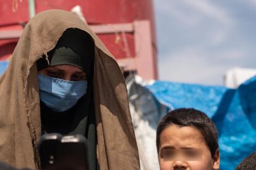
[[0, 79], [0, 161], [39, 169], [40, 99], [36, 60], [56, 46], [67, 28], [86, 31], [95, 41], [93, 95], [100, 169], [140, 169], [139, 154], [121, 70], [100, 39], [79, 17], [47, 10], [27, 23]]

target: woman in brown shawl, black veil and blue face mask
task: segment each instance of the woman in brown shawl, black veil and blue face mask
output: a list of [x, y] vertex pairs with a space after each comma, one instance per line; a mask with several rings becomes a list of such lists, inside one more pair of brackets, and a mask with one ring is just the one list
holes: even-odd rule
[[[88, 25], [63, 10], [41, 12], [25, 26], [12, 56], [0, 79], [1, 161], [40, 169], [41, 134], [59, 132], [87, 138], [92, 169], [97, 163], [100, 169], [139, 169], [126, 84]], [[51, 89], [58, 81], [64, 87]]]

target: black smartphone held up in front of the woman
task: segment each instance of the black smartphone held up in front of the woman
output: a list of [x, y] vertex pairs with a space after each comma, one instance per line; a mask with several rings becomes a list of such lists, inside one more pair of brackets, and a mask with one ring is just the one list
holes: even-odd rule
[[45, 134], [39, 144], [43, 170], [88, 170], [88, 144], [85, 137]]

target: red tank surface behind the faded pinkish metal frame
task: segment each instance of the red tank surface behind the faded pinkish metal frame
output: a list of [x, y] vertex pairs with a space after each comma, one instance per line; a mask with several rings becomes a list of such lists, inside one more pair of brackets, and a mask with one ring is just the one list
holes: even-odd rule
[[[12, 2], [17, 2], [17, 11], [12, 12]], [[150, 20], [152, 47], [154, 54], [154, 70], [157, 75], [156, 63], [156, 36], [155, 20], [153, 13], [153, 0], [36, 0], [36, 13], [48, 9], [70, 10], [74, 6], [81, 6], [82, 12], [89, 25], [101, 23], [129, 23], [134, 20]], [[27, 23], [29, 20], [28, 0], [0, 0], [0, 30], [22, 29], [20, 23]], [[100, 34], [100, 39], [108, 47], [109, 51], [117, 58], [135, 57], [134, 35], [125, 34]], [[125, 39], [123, 39], [125, 37]], [[119, 41], [117, 41], [119, 40]], [[129, 53], [124, 42], [128, 42]], [[0, 60], [4, 60], [12, 54], [14, 49], [14, 40], [0, 40]], [[157, 77], [156, 77], [157, 78]]]

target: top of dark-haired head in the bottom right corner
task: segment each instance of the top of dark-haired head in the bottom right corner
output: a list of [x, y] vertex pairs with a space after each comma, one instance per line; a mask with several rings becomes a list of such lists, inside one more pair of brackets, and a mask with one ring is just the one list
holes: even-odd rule
[[249, 155], [237, 166], [236, 170], [256, 169], [256, 152]]

